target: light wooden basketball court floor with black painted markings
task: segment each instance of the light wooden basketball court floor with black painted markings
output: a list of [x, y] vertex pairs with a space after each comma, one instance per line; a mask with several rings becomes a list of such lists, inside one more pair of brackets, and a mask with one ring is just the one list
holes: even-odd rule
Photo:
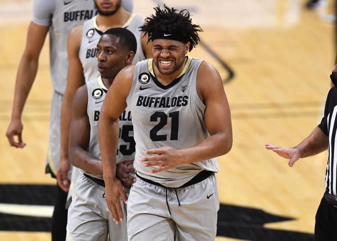
[[[134, 2], [142, 16], [162, 3], [189, 9], [204, 29], [202, 44], [190, 55], [213, 64], [224, 79], [233, 148], [218, 159], [216, 240], [314, 240], [327, 153], [290, 168], [264, 145], [294, 146], [321, 120], [335, 58], [332, 0], [319, 10], [305, 9], [304, 0]], [[23, 227], [29, 226], [27, 217], [49, 222], [52, 213], [51, 205], [20, 205], [26, 195], [41, 199], [32, 187], [55, 184], [44, 174], [52, 94], [47, 41], [22, 117], [27, 146], [12, 148], [5, 137], [31, 15], [32, 1], [0, 2], [0, 240], [50, 240], [46, 230], [15, 228], [22, 220], [28, 220]]]

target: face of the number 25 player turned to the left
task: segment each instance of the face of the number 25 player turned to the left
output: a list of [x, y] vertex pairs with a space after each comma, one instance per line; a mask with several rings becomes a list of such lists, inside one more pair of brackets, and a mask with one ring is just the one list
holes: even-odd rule
[[102, 35], [97, 44], [98, 71], [102, 78], [114, 78], [127, 65], [126, 48], [119, 38], [110, 34]]

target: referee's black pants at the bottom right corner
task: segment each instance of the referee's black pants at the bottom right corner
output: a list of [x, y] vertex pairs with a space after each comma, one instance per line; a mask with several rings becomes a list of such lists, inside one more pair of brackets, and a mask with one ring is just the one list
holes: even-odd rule
[[328, 203], [324, 197], [316, 212], [316, 241], [337, 241], [337, 207]]

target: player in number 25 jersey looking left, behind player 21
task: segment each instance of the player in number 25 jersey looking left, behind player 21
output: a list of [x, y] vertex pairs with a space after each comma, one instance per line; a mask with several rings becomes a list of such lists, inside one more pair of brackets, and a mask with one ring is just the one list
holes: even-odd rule
[[[106, 92], [119, 70], [132, 63], [137, 49], [135, 36], [125, 28], [107, 30], [97, 45], [101, 77], [80, 87], [74, 96], [69, 129], [71, 164], [81, 168], [68, 210], [67, 240], [128, 240], [126, 221], [116, 225], [104, 198], [104, 180], [98, 143], [98, 120]], [[117, 162], [133, 160], [135, 142], [128, 108], [119, 118], [121, 138]], [[116, 153], [115, 151], [111, 151]], [[128, 175], [128, 173], [126, 173]], [[127, 180], [125, 178], [124, 180]], [[129, 180], [132, 179], [129, 178]], [[123, 205], [123, 202], [122, 202]]]

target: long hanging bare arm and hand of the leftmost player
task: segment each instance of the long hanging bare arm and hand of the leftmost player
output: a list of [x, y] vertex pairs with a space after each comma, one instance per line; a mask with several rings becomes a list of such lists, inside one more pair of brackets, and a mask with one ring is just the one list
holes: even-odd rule
[[6, 132], [9, 144], [16, 148], [23, 148], [26, 145], [22, 141], [21, 115], [35, 80], [40, 52], [48, 31], [49, 26], [38, 25], [34, 22], [29, 24], [25, 51], [23, 51], [16, 74], [11, 122]]

